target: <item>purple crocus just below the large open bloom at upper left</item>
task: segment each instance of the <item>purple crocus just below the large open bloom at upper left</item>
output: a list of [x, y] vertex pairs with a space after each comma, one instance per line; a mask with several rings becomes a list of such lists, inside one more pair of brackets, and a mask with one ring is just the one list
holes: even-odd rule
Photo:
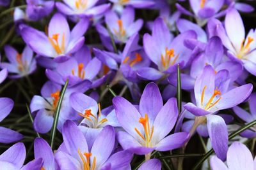
[[57, 63], [54, 71], [46, 69], [45, 73], [51, 81], [60, 85], [64, 85], [68, 78], [69, 87], [84, 80], [92, 81], [92, 87], [97, 87], [107, 77], [102, 76], [102, 78], [95, 79], [101, 68], [100, 60], [97, 57], [92, 58], [90, 49], [87, 46], [83, 46], [74, 53], [74, 57], [65, 62]]

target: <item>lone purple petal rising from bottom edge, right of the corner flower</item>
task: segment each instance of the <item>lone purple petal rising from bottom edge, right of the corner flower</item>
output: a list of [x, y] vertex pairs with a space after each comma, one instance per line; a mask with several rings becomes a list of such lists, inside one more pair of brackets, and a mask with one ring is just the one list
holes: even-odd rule
[[41, 170], [55, 170], [54, 155], [49, 144], [43, 138], [36, 138], [34, 142], [35, 159], [42, 159]]

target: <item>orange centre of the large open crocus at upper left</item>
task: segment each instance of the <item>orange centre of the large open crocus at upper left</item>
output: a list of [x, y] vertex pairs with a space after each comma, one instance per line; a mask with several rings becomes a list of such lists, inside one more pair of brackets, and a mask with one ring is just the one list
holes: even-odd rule
[[56, 53], [58, 53], [58, 55], [65, 52], [65, 34], [62, 34], [61, 45], [59, 43], [59, 36], [60, 34], [53, 34], [52, 37], [48, 37], [52, 47], [54, 48]]

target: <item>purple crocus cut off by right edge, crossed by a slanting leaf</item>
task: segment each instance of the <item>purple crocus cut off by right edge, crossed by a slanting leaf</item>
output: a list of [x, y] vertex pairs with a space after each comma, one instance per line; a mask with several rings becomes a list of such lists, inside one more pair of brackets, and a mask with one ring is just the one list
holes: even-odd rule
[[[239, 118], [241, 118], [242, 120], [244, 120], [244, 122], [246, 122], [246, 123], [250, 123], [253, 120], [256, 120], [256, 106], [255, 106], [256, 94], [255, 93], [251, 94], [248, 103], [249, 103], [250, 113], [248, 113], [248, 111], [243, 110], [239, 106], [235, 106], [233, 108], [233, 111], [236, 113], [236, 115]], [[255, 129], [255, 127], [251, 127], [251, 129]], [[248, 130], [242, 132], [240, 135], [245, 138], [255, 138], [256, 132], [250, 131], [248, 129]]]

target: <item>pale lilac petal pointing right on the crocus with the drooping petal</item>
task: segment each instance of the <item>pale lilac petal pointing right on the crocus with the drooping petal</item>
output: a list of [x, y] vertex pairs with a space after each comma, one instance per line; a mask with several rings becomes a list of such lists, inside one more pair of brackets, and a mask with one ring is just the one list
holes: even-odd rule
[[214, 107], [218, 108], [218, 110], [232, 108], [237, 104], [242, 103], [248, 96], [250, 96], [252, 89], [252, 84], [236, 87], [235, 89], [232, 89], [223, 94], [221, 96], [220, 102], [218, 102]]

